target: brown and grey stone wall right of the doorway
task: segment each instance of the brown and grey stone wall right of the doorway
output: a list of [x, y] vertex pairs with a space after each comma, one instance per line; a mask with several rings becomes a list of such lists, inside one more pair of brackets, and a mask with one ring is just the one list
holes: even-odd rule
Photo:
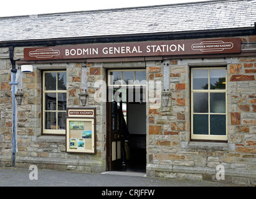
[[[163, 79], [170, 68], [171, 109], [148, 103], [148, 176], [216, 180], [216, 166], [225, 168], [225, 182], [256, 182], [256, 57], [181, 59], [151, 63], [148, 80]], [[190, 141], [190, 67], [227, 66], [227, 143]], [[155, 88], [155, 93], [157, 93]]]

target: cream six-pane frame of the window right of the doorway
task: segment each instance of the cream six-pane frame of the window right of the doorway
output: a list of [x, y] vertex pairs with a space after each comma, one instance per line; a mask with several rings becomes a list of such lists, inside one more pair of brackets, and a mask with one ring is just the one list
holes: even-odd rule
[[[194, 70], [208, 70], [208, 86], [210, 86], [210, 70], [225, 69], [225, 90], [193, 90], [193, 71]], [[193, 95], [194, 93], [208, 93], [208, 113], [194, 113]], [[210, 93], [225, 93], [225, 113], [211, 113], [210, 111]], [[193, 115], [194, 114], [208, 114], [208, 135], [194, 134], [193, 133]], [[225, 135], [211, 135], [210, 134], [210, 115], [223, 114], [225, 115]], [[214, 140], [214, 141], [227, 141], [227, 67], [195, 67], [191, 68], [191, 139], [198, 140]]]

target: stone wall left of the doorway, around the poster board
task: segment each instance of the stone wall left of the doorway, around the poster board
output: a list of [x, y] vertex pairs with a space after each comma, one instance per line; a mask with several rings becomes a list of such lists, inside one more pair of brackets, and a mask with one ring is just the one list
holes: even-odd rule
[[[2, 57], [9, 55], [7, 49], [1, 49]], [[22, 57], [22, 48], [17, 48], [16, 59]], [[1, 54], [1, 53], [0, 53]], [[8, 59], [0, 60], [1, 83], [1, 132], [0, 132], [0, 165], [10, 166], [12, 155], [12, 91], [11, 63]], [[16, 68], [19, 69], [16, 64]], [[82, 68], [85, 68], [82, 70]], [[86, 107], [96, 108], [96, 148], [97, 154], [69, 154], [65, 152], [65, 136], [42, 135], [42, 71], [67, 71], [67, 107], [82, 107], [78, 93], [82, 89], [82, 78], [87, 80], [88, 102]], [[84, 74], [83, 74], [84, 73]], [[94, 86], [96, 80], [105, 78], [101, 65], [92, 63], [39, 63], [34, 64], [32, 73], [21, 73], [19, 86], [24, 93], [21, 105], [17, 109], [17, 167], [29, 168], [35, 164], [41, 169], [77, 170], [80, 172], [105, 171], [105, 104], [96, 103]], [[83, 77], [82, 77], [83, 76]], [[85, 81], [86, 81], [85, 80]]]

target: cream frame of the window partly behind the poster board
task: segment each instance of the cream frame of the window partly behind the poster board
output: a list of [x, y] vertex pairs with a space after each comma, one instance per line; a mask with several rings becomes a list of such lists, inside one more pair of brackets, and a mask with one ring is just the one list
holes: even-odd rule
[[[56, 127], [58, 126], [58, 112], [66, 113], [66, 111], [58, 110], [58, 100], [56, 99], [56, 110], [46, 111], [45, 110], [45, 93], [67, 93], [67, 90], [57, 90], [57, 78], [56, 78], [56, 90], [45, 90], [45, 73], [67, 73], [65, 70], [45, 70], [43, 72], [43, 81], [42, 81], [42, 134], [57, 134], [65, 135], [65, 129], [45, 129], [45, 113], [46, 112], [56, 112]], [[66, 106], [67, 107], [67, 106]]]

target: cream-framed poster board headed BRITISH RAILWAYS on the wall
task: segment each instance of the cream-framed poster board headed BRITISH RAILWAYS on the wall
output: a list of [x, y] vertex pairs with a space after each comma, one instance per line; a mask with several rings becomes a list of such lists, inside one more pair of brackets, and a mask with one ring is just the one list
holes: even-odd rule
[[95, 108], [67, 108], [66, 151], [96, 153]]

